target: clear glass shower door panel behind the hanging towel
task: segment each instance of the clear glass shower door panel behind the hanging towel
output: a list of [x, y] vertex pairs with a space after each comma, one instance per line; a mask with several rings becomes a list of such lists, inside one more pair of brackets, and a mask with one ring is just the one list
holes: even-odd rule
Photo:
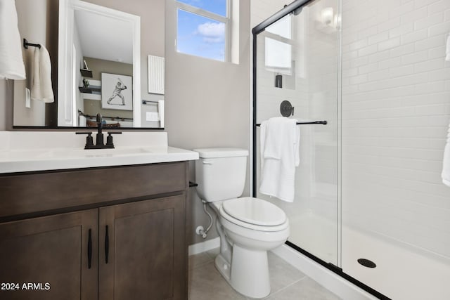
[[[295, 200], [259, 193], [259, 127], [255, 131], [256, 197], [281, 207], [290, 221], [288, 242], [338, 265], [338, 28], [337, 1], [311, 1], [259, 32], [255, 43], [255, 123], [294, 107], [300, 126]], [[336, 21], [336, 22], [335, 22]], [[280, 133], [283, 134], [283, 133]]]

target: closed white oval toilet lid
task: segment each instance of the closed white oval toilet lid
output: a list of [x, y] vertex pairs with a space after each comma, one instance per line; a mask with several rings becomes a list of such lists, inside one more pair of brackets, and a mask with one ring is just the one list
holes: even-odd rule
[[226, 214], [245, 223], [277, 226], [285, 223], [286, 214], [271, 202], [253, 197], [226, 200], [222, 204]]

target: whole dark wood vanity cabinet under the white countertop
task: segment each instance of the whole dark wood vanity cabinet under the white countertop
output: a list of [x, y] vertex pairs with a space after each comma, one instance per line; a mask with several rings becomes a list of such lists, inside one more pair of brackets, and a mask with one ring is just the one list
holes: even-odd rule
[[[72, 205], [117, 174], [117, 197]], [[0, 176], [0, 299], [187, 299], [186, 174], [176, 162]], [[72, 188], [98, 175], [96, 190]]]

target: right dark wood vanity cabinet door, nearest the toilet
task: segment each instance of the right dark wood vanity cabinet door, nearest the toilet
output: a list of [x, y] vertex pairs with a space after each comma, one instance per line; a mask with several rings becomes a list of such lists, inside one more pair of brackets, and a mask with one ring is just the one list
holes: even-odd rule
[[184, 201], [179, 195], [100, 209], [99, 299], [187, 299]]

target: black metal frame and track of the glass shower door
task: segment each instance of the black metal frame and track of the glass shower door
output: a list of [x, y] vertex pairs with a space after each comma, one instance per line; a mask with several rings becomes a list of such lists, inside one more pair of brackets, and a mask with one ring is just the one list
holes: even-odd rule
[[[269, 27], [270, 25], [274, 24], [274, 22], [280, 20], [281, 18], [284, 18], [286, 15], [289, 15], [290, 13], [293, 13], [296, 9], [302, 8], [303, 6], [306, 6], [310, 2], [314, 2], [316, 0], [296, 0], [293, 3], [289, 4], [288, 6], [285, 6], [281, 11], [278, 11], [274, 15], [271, 15], [271, 17], [267, 18], [263, 22], [259, 23], [259, 25], [253, 27], [252, 29], [252, 197], [256, 197], [257, 190], [256, 190], [256, 182], [257, 182], [257, 176], [256, 176], [256, 169], [257, 169], [257, 150], [256, 150], [256, 143], [257, 143], [257, 36], [259, 33], [264, 32], [266, 30], [266, 27]], [[340, 5], [342, 8], [342, 4]], [[341, 9], [342, 11], [342, 9]], [[341, 30], [342, 34], [342, 30]], [[342, 37], [339, 38], [339, 44], [338, 44], [338, 53], [341, 53], [342, 49]], [[342, 72], [342, 58], [339, 57], [338, 59], [338, 72]], [[340, 86], [340, 80], [341, 77], [338, 76], [338, 86]], [[338, 88], [338, 102], [341, 103], [341, 89]], [[340, 105], [338, 105], [338, 171], [340, 170], [340, 143], [341, 143], [341, 129], [340, 129], [340, 117], [341, 117], [341, 109]], [[340, 180], [341, 176], [340, 173], [338, 173], [338, 198], [340, 199]], [[339, 200], [338, 199], [338, 200]], [[340, 203], [341, 201], [338, 201], [338, 211], [340, 211]], [[338, 218], [338, 241], [337, 241], [337, 247], [341, 247], [341, 240], [342, 235], [340, 233], [340, 228], [342, 219]], [[357, 287], [364, 289], [364, 291], [372, 294], [373, 296], [376, 296], [378, 299], [383, 300], [390, 300], [389, 297], [385, 296], [384, 294], [381, 294], [377, 290], [373, 289], [372, 287], [369, 287], [368, 285], [364, 284], [364, 282], [361, 282], [357, 280], [356, 278], [353, 278], [351, 275], [348, 275], [345, 273], [342, 268], [339, 266], [336, 266], [333, 263], [323, 261], [318, 256], [315, 256], [314, 254], [311, 254], [310, 252], [307, 252], [307, 250], [302, 249], [302, 247], [297, 246], [293, 242], [286, 241], [286, 245], [289, 247], [295, 249], [297, 252], [300, 252], [304, 256], [307, 256], [309, 259], [312, 259], [316, 263], [319, 263], [321, 266], [327, 268], [328, 270], [331, 270], [333, 273], [339, 275], [340, 277], [344, 278], [345, 280], [351, 282], [352, 284], [356, 285]], [[338, 250], [338, 254], [340, 254], [341, 250]], [[340, 255], [338, 255], [338, 264], [341, 264]]]

